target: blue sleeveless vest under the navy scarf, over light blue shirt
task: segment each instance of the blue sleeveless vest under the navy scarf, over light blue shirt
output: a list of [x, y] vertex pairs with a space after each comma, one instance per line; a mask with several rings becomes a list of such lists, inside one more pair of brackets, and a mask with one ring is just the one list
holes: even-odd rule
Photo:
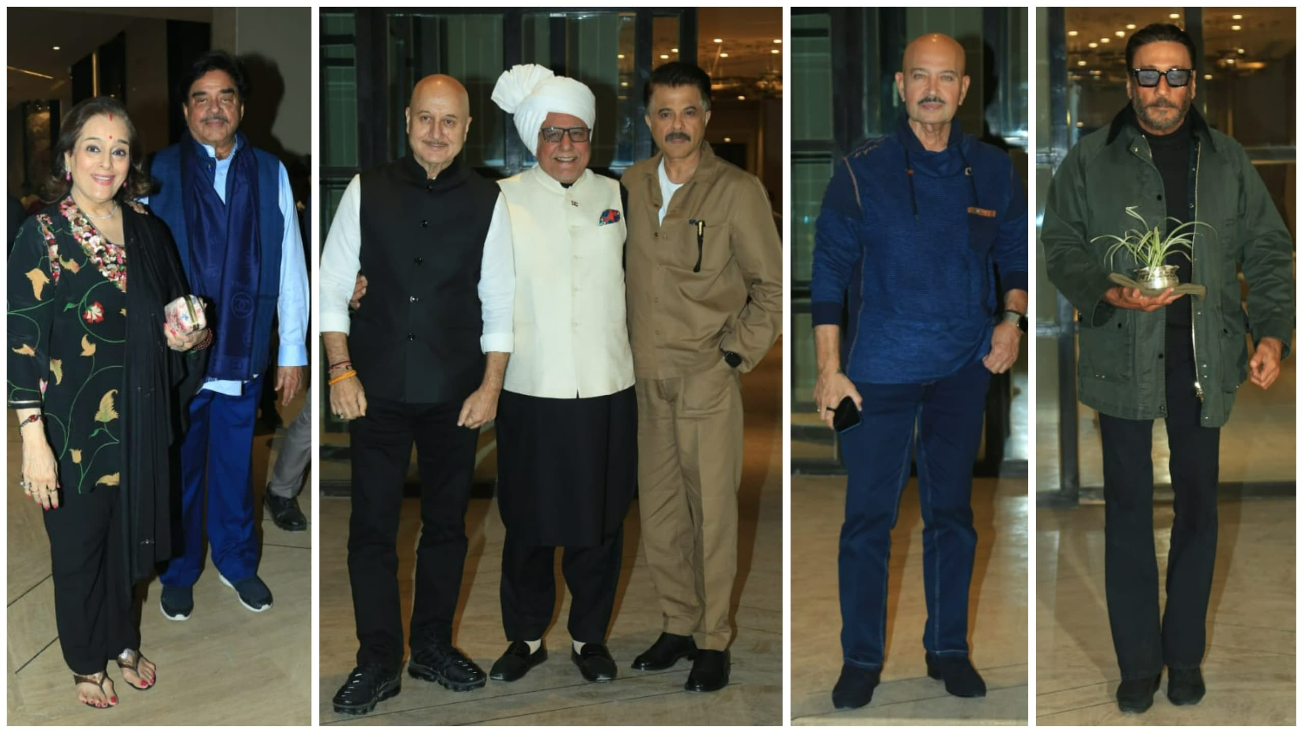
[[[172, 231], [177, 253], [181, 256], [181, 267], [185, 270], [186, 279], [193, 282], [194, 279], [190, 275], [190, 245], [185, 228], [185, 207], [181, 192], [181, 145], [194, 145], [198, 149], [200, 158], [213, 160], [213, 156], [202, 146], [190, 141], [190, 138], [185, 138], [181, 143], [164, 147], [154, 154], [150, 176], [158, 184], [159, 189], [150, 194], [150, 209]], [[261, 374], [271, 362], [271, 326], [276, 317], [276, 299], [280, 295], [280, 248], [284, 240], [286, 223], [280, 214], [279, 199], [280, 160], [257, 147], [253, 149], [253, 153], [258, 162], [258, 231], [262, 241], [262, 258], [257, 284], [258, 300], [254, 316], [253, 355], [249, 365], [256, 374]], [[211, 185], [214, 166], [210, 163], [205, 167], [205, 171], [209, 173], [209, 183]], [[231, 181], [228, 177], [227, 186], [231, 185]], [[196, 295], [203, 296], [209, 301], [213, 300], [207, 293]], [[216, 309], [223, 308], [222, 304], [214, 304], [214, 306]]]

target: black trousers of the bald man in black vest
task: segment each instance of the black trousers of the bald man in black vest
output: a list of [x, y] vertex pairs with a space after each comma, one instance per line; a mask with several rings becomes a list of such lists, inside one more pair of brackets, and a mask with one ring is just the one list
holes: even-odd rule
[[412, 404], [369, 399], [349, 425], [352, 515], [348, 579], [357, 624], [357, 664], [403, 664], [399, 557], [403, 482], [416, 442], [421, 475], [421, 540], [416, 550], [412, 648], [452, 639], [452, 615], [467, 557], [466, 514], [479, 432], [459, 428], [462, 402]]

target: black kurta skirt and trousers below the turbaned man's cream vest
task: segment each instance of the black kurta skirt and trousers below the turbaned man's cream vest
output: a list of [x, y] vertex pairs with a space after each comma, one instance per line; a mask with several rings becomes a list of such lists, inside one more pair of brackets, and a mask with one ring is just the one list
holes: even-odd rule
[[625, 515], [638, 481], [634, 389], [601, 398], [498, 399], [503, 632], [539, 640], [556, 604], [553, 563], [571, 593], [567, 631], [604, 643], [615, 605]]

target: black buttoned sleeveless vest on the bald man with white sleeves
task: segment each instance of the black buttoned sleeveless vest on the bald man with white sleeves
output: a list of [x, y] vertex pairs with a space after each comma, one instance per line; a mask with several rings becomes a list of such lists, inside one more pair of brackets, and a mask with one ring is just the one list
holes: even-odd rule
[[366, 308], [349, 356], [368, 396], [467, 399], [484, 378], [480, 262], [498, 185], [456, 159], [434, 179], [411, 154], [361, 175]]

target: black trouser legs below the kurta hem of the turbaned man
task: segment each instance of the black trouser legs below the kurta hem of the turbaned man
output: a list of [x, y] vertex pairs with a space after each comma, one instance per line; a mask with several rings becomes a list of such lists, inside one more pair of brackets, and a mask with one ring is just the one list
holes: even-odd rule
[[[580, 643], [606, 641], [606, 627], [615, 605], [615, 583], [621, 578], [621, 551], [625, 531], [602, 538], [591, 548], [567, 546], [562, 551], [562, 576], [571, 592], [570, 622], [566, 628]], [[509, 529], [502, 544], [502, 630], [509, 640], [539, 640], [553, 618], [557, 580], [553, 576], [553, 546], [512, 542]]]

